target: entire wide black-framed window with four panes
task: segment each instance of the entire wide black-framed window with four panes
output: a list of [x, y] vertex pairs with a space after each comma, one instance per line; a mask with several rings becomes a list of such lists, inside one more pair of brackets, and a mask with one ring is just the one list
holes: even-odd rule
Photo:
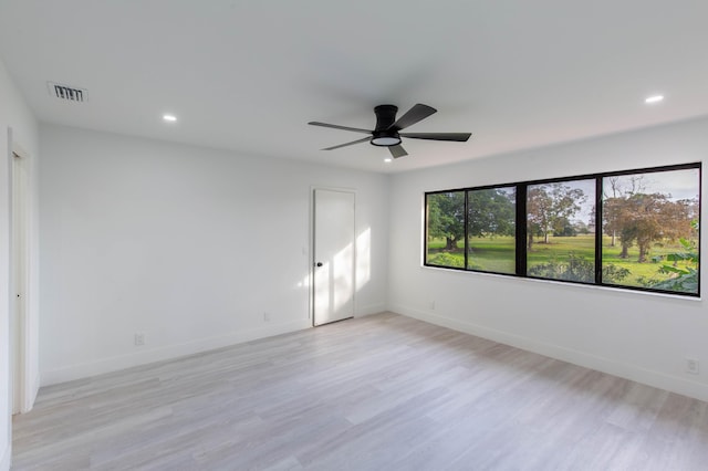
[[697, 296], [700, 164], [426, 193], [425, 264]]

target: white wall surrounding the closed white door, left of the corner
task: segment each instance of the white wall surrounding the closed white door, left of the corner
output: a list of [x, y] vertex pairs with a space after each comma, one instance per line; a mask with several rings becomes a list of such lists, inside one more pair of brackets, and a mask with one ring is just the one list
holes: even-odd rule
[[312, 186], [356, 190], [360, 263], [371, 263], [356, 315], [385, 310], [386, 176], [40, 134], [42, 385], [310, 326]]

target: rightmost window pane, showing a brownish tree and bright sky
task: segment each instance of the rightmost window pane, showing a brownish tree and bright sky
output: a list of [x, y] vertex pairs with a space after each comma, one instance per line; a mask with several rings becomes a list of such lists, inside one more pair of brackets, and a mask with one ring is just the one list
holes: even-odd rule
[[602, 281], [698, 293], [699, 169], [603, 178]]

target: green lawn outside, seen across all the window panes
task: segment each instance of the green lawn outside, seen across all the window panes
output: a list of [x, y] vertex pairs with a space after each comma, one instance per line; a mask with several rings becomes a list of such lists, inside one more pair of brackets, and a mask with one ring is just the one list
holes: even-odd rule
[[[576, 237], [551, 237], [550, 243], [534, 240], [532, 250], [528, 253], [528, 268], [541, 265], [555, 260], [559, 263], [568, 263], [569, 253], [581, 257], [589, 262], [593, 262], [595, 258], [595, 237], [593, 234]], [[649, 286], [658, 281], [667, 280], [670, 275], [659, 273], [659, 268], [667, 262], [648, 261], [638, 263], [639, 250], [636, 247], [629, 249], [628, 259], [620, 259], [622, 247], [611, 247], [610, 237], [603, 238], [603, 266], [614, 264], [617, 268], [629, 270], [631, 274], [617, 281], [616, 284], [626, 286]], [[433, 240], [428, 243], [428, 258], [430, 264], [445, 266], [464, 268], [465, 250], [464, 242], [458, 243], [456, 251], [447, 252], [445, 249], [445, 240]], [[482, 270], [497, 273], [514, 272], [514, 238], [494, 237], [494, 238], [471, 238], [470, 239], [469, 263], [472, 270]], [[668, 253], [681, 252], [678, 242], [655, 244], [648, 259], [664, 257]], [[686, 263], [679, 263], [679, 268], [685, 268]], [[607, 280], [605, 280], [607, 281]]]

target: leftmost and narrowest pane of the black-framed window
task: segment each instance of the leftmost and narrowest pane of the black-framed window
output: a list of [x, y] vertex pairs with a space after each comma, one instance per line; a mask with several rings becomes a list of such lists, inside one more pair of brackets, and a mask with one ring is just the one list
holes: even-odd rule
[[425, 262], [465, 268], [465, 191], [427, 195]]

